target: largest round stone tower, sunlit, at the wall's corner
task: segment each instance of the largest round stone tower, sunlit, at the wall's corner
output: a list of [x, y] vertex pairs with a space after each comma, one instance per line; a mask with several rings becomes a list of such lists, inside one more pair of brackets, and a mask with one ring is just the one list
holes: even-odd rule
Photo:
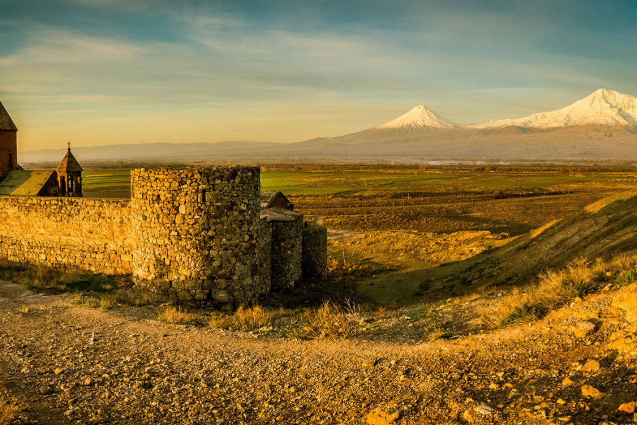
[[141, 168], [131, 178], [138, 285], [185, 301], [258, 301], [258, 167]]

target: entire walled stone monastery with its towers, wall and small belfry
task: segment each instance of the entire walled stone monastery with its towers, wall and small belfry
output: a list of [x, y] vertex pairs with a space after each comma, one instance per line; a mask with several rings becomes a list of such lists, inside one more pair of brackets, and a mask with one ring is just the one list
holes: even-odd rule
[[[16, 130], [7, 131], [15, 144]], [[180, 301], [230, 306], [326, 276], [324, 227], [262, 208], [259, 167], [134, 169], [129, 200], [82, 198], [70, 147], [55, 171], [8, 171], [0, 257], [11, 261], [132, 275], [138, 287]]]

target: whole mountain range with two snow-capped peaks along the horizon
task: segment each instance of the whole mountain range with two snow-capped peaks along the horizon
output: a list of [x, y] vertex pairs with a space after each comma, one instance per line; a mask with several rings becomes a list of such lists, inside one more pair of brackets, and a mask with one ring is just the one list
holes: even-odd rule
[[[637, 98], [599, 89], [558, 110], [466, 125], [418, 105], [381, 126], [297, 143], [150, 143], [73, 148], [73, 152], [85, 161], [637, 159]], [[20, 152], [20, 161], [55, 161], [63, 154], [63, 149]]]

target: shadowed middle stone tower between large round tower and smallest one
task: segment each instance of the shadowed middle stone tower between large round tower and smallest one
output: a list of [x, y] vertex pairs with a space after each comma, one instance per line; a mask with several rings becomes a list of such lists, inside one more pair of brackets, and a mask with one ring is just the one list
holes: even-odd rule
[[303, 215], [289, 221], [272, 221], [272, 289], [292, 289], [301, 278]]

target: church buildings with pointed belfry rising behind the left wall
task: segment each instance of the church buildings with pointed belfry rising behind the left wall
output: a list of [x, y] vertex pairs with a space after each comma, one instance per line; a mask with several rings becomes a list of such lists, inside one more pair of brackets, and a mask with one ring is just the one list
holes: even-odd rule
[[82, 166], [71, 153], [55, 170], [24, 169], [18, 164], [18, 127], [0, 102], [0, 195], [82, 196]]

